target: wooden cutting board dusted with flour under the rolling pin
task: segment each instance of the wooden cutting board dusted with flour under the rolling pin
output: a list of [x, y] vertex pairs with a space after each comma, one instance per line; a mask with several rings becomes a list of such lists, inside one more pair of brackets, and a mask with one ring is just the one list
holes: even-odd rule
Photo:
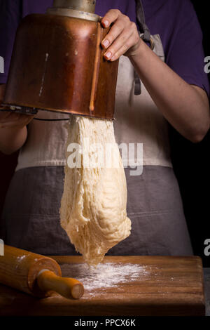
[[85, 286], [80, 300], [38, 299], [0, 286], [0, 315], [204, 315], [199, 257], [106, 256], [98, 270], [82, 257], [57, 256], [62, 275]]

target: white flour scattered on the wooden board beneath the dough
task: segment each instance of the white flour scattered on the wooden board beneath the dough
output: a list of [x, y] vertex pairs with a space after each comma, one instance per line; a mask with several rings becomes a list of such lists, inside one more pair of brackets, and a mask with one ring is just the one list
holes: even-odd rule
[[116, 287], [141, 280], [148, 274], [148, 268], [133, 263], [101, 263], [97, 268], [83, 263], [66, 264], [61, 268], [63, 277], [78, 279], [83, 283], [85, 291]]

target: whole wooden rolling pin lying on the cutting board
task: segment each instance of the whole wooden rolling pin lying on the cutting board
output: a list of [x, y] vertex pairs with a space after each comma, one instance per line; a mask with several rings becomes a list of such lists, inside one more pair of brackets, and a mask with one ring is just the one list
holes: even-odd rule
[[40, 254], [4, 246], [0, 256], [0, 283], [45, 298], [55, 291], [65, 298], [83, 296], [83, 284], [77, 279], [61, 277], [58, 263]]

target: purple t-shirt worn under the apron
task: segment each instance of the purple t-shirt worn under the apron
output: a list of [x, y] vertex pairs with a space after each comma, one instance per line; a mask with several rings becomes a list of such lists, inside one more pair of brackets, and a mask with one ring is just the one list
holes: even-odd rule
[[[160, 34], [165, 60], [189, 84], [209, 93], [209, 81], [204, 72], [202, 30], [190, 0], [142, 0], [146, 24], [151, 34]], [[0, 83], [8, 76], [15, 32], [22, 17], [29, 13], [45, 13], [52, 0], [0, 0], [0, 56], [5, 61]], [[104, 16], [118, 8], [136, 22], [135, 0], [97, 0], [96, 13]]]

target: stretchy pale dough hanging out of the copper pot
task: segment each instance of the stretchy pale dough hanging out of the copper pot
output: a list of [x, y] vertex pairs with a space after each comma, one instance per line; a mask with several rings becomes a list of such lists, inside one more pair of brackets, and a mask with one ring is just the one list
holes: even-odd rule
[[[74, 168], [66, 164], [61, 225], [85, 262], [97, 265], [111, 247], [130, 235], [125, 171], [112, 121], [72, 116], [68, 125], [67, 147], [71, 143], [80, 145], [77, 155], [81, 156], [81, 167], [79, 163]], [[87, 141], [90, 146], [99, 144], [97, 152], [88, 147]], [[111, 147], [109, 152], [105, 152], [107, 146]], [[101, 153], [104, 166], [99, 166]], [[73, 154], [66, 148], [68, 161], [69, 155], [72, 159]], [[91, 166], [87, 166], [87, 161]], [[98, 161], [97, 166], [93, 161]]]

